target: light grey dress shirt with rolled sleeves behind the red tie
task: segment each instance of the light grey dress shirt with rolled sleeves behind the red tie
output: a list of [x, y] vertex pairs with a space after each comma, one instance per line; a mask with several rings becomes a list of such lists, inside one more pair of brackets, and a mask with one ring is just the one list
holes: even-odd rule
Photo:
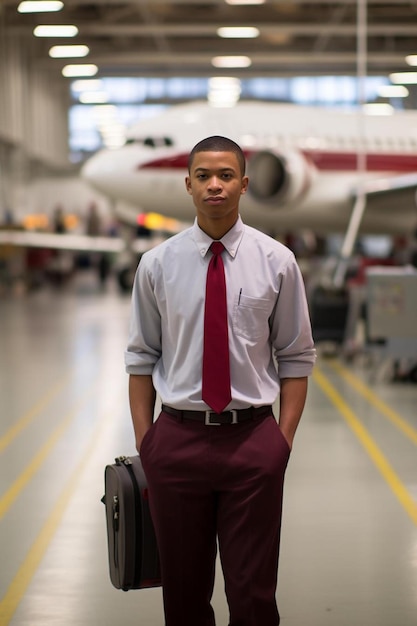
[[[315, 361], [303, 279], [288, 248], [240, 217], [221, 242], [232, 387], [226, 410], [272, 404], [280, 378], [308, 376]], [[211, 243], [196, 220], [143, 255], [133, 286], [126, 371], [152, 374], [162, 402], [182, 410], [209, 408], [201, 379]]]

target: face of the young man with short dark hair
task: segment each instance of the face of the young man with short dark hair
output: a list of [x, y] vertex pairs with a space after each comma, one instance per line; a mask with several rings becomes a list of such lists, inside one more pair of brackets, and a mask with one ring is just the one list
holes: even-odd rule
[[240, 196], [248, 187], [234, 152], [197, 152], [185, 184], [197, 210], [197, 220], [204, 225], [224, 220], [231, 227], [239, 214]]

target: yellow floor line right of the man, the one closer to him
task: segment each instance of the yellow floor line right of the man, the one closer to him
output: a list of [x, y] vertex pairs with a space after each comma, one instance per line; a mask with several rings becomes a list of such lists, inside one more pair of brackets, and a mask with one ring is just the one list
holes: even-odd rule
[[395, 473], [390, 463], [387, 461], [381, 450], [378, 448], [366, 428], [363, 426], [359, 418], [355, 415], [349, 405], [345, 402], [339, 392], [333, 387], [330, 381], [326, 378], [323, 372], [318, 366], [315, 367], [313, 372], [313, 380], [334, 404], [337, 410], [345, 418], [350, 428], [355, 433], [367, 454], [375, 463], [378, 470], [381, 472], [383, 478], [392, 489], [394, 495], [398, 498], [399, 502], [410, 516], [411, 520], [417, 526], [417, 504], [407, 491], [404, 484]]

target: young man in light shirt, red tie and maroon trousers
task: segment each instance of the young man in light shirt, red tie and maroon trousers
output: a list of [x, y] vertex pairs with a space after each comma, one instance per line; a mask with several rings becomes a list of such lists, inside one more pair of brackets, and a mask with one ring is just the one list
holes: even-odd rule
[[[237, 144], [218, 136], [199, 142], [185, 183], [195, 223], [142, 257], [126, 351], [166, 626], [214, 626], [217, 541], [229, 626], [277, 626], [283, 480], [315, 360], [303, 280], [293, 254], [239, 216], [248, 178]], [[224, 250], [213, 253], [213, 241]], [[226, 381], [228, 395], [213, 409], [203, 362], [216, 341], [205, 338], [205, 305], [218, 254], [228, 354], [214, 349], [212, 387]], [[221, 287], [215, 291], [219, 309]], [[152, 423], [156, 392], [162, 412]], [[279, 423], [271, 407], [278, 395]]]

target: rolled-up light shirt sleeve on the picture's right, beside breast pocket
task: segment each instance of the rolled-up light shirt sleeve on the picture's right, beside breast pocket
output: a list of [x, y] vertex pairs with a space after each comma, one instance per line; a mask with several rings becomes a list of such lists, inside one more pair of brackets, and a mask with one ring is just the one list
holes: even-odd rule
[[277, 304], [270, 323], [278, 376], [309, 376], [316, 360], [316, 351], [304, 281], [293, 256], [281, 275]]

